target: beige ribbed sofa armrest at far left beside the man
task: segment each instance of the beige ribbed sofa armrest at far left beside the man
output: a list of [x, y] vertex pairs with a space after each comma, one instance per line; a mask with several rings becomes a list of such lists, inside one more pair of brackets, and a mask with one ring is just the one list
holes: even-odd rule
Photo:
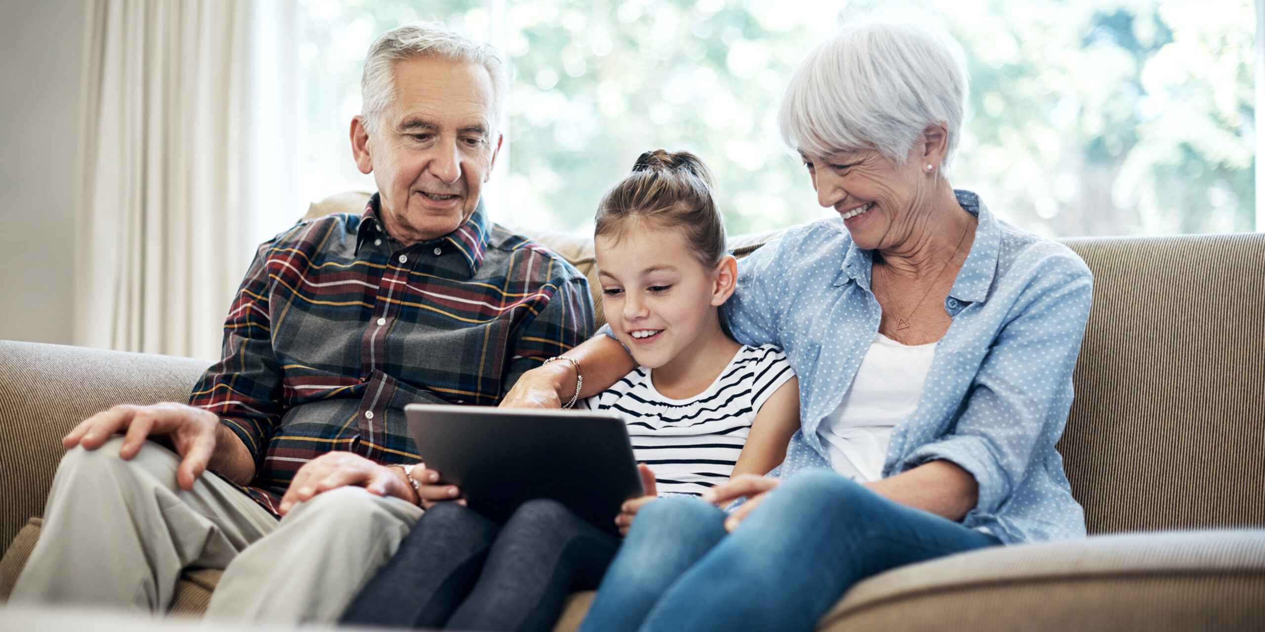
[[0, 551], [43, 513], [66, 432], [119, 403], [183, 402], [209, 364], [0, 340]]

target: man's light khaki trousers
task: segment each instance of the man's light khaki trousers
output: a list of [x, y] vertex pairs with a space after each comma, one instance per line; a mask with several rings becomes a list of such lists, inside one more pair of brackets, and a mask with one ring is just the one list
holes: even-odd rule
[[280, 522], [214, 474], [176, 484], [180, 456], [121, 437], [70, 450], [10, 603], [166, 612], [186, 566], [224, 569], [206, 617], [333, 622], [395, 554], [421, 509], [358, 487], [316, 495]]

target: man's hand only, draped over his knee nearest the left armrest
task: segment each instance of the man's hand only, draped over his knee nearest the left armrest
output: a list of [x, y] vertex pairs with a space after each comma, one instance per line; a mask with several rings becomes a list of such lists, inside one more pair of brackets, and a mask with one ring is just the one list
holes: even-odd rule
[[83, 420], [62, 437], [62, 445], [67, 450], [77, 445], [96, 450], [115, 432], [125, 432], [119, 456], [130, 460], [147, 437], [163, 435], [171, 440], [176, 454], [183, 458], [176, 469], [176, 482], [181, 489], [192, 489], [215, 454], [219, 430], [220, 418], [202, 408], [175, 402], [120, 404]]

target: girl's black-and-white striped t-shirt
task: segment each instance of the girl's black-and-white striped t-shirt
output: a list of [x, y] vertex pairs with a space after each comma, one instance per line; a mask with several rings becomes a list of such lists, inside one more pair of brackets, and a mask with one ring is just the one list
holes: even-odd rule
[[710, 387], [688, 399], [664, 397], [650, 374], [639, 367], [584, 403], [624, 413], [632, 455], [654, 470], [660, 495], [700, 494], [729, 479], [755, 413], [794, 375], [773, 345], [744, 345]]

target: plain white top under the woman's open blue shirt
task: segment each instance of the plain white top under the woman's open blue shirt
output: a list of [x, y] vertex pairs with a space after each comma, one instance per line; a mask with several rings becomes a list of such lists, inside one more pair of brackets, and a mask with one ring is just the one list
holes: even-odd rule
[[859, 482], [883, 478], [892, 427], [918, 407], [936, 344], [902, 345], [883, 334], [870, 343], [839, 407], [817, 426], [830, 466]]

